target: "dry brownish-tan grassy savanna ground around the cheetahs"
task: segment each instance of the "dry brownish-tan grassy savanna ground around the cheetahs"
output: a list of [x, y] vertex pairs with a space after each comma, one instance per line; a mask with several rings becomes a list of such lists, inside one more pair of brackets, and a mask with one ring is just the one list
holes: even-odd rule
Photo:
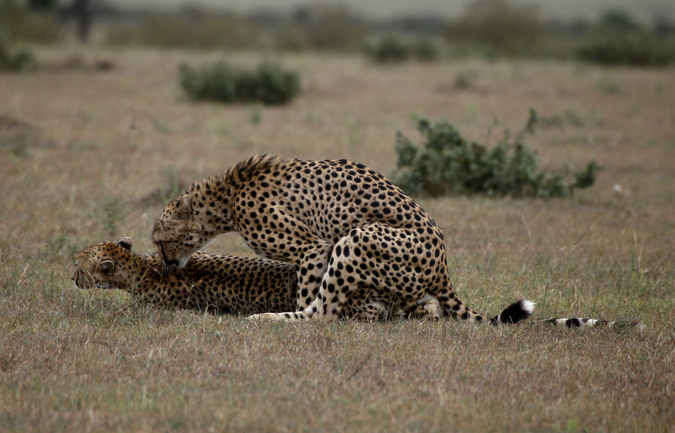
[[[296, 55], [284, 64], [303, 94], [267, 108], [187, 100], [177, 65], [206, 55], [86, 55], [115, 69], [0, 76], [0, 430], [675, 431], [673, 69]], [[151, 252], [163, 200], [252, 154], [390, 174], [395, 132], [417, 140], [418, 116], [494, 143], [530, 107], [541, 168], [596, 159], [592, 188], [419, 201], [445, 230], [460, 297], [490, 314], [532, 299], [532, 324], [256, 323], [69, 279], [90, 243], [132, 236]], [[251, 254], [234, 235], [208, 251]], [[572, 315], [645, 327], [536, 323]]]

